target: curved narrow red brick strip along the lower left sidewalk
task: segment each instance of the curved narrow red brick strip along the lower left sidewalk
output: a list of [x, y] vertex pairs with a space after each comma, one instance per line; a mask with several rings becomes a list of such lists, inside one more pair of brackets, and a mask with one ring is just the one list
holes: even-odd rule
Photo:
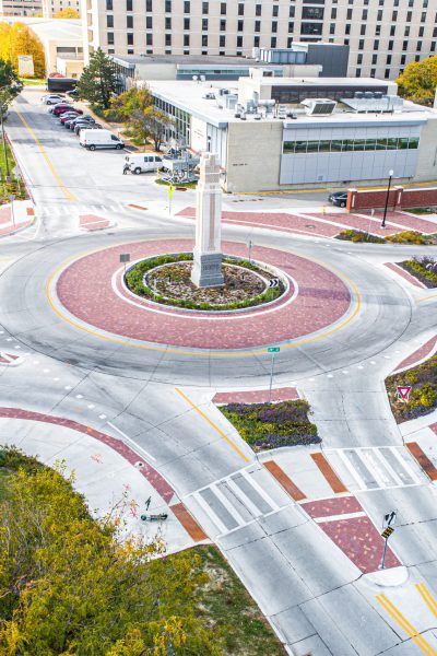
[[73, 431], [78, 431], [79, 433], [84, 433], [85, 435], [91, 435], [95, 440], [98, 440], [103, 444], [106, 444], [114, 450], [116, 450], [120, 456], [122, 456], [126, 460], [131, 462], [131, 465], [137, 465], [138, 462], [142, 462], [143, 466], [139, 469], [139, 471], [143, 475], [144, 478], [153, 485], [156, 492], [162, 496], [165, 503], [169, 503], [174, 496], [174, 490], [167, 483], [167, 481], [161, 476], [156, 469], [151, 467], [147, 462], [144, 462], [142, 457], [139, 456], [133, 449], [127, 446], [120, 440], [116, 437], [111, 437], [110, 435], [106, 435], [106, 433], [101, 433], [91, 426], [85, 426], [84, 424], [78, 423], [76, 421], [72, 421], [70, 419], [63, 419], [61, 417], [55, 417], [52, 414], [43, 414], [40, 412], [32, 412], [29, 410], [21, 410], [20, 408], [0, 408], [0, 417], [11, 418], [11, 419], [25, 419], [31, 421], [39, 421], [43, 423], [56, 424], [58, 426], [66, 426], [67, 429], [72, 429]]

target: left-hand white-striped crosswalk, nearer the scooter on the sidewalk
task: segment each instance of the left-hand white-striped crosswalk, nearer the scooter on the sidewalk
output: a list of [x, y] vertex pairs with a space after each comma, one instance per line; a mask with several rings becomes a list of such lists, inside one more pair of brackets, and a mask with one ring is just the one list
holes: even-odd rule
[[291, 505], [290, 497], [259, 465], [191, 492], [185, 503], [210, 537], [223, 538]]

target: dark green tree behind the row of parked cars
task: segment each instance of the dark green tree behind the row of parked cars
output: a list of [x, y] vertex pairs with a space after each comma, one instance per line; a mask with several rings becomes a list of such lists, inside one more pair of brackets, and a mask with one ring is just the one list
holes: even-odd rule
[[97, 48], [90, 58], [90, 65], [83, 69], [78, 83], [78, 91], [82, 98], [92, 105], [107, 109], [110, 98], [118, 86], [117, 72], [114, 61]]

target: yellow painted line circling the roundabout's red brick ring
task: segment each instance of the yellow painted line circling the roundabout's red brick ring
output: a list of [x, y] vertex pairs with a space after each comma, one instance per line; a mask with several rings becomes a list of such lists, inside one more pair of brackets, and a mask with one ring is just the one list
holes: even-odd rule
[[[161, 241], [161, 238], [158, 239], [149, 239], [149, 241]], [[140, 243], [140, 242], [144, 242], [144, 238], [142, 239], [135, 239], [133, 242], [130, 242], [130, 244], [135, 244], [135, 243]], [[115, 248], [117, 246], [122, 246], [125, 245], [126, 242], [119, 242], [118, 244], [115, 244], [114, 246], [111, 246], [111, 248]], [[69, 258], [68, 260], [66, 260], [64, 262], [62, 262], [48, 278], [47, 283], [46, 283], [46, 298], [47, 302], [49, 304], [49, 306], [51, 307], [51, 309], [55, 312], [55, 314], [58, 315], [58, 317], [60, 317], [63, 321], [66, 321], [66, 324], [69, 324], [70, 326], [72, 326], [73, 328], [78, 328], [79, 330], [82, 330], [83, 332], [86, 332], [87, 335], [92, 335], [93, 337], [97, 337], [98, 339], [103, 339], [106, 341], [110, 341], [113, 343], [116, 344], [123, 344], [126, 347], [133, 347], [134, 349], [143, 349], [145, 351], [156, 351], [158, 353], [177, 353], [179, 355], [190, 355], [190, 356], [194, 356], [194, 358], [212, 358], [212, 359], [223, 359], [223, 358], [250, 358], [252, 355], [264, 355], [267, 354], [267, 345], [264, 348], [262, 347], [255, 347], [253, 349], [246, 349], [245, 351], [238, 351], [238, 352], [221, 352], [221, 351], [209, 351], [209, 350], [204, 350], [204, 351], [187, 351], [184, 348], [180, 349], [176, 349], [176, 348], [167, 348], [165, 345], [150, 345], [150, 344], [139, 344], [139, 343], [134, 343], [132, 341], [129, 340], [125, 340], [121, 339], [120, 337], [113, 337], [110, 335], [102, 335], [102, 332], [99, 332], [98, 330], [93, 330], [93, 328], [87, 328], [85, 326], [83, 326], [80, 323], [73, 321], [72, 319], [70, 319], [68, 316], [66, 316], [62, 312], [60, 312], [60, 309], [56, 306], [52, 297], [51, 297], [51, 293], [50, 293], [50, 289], [51, 289], [51, 284], [55, 280], [55, 278], [60, 273], [60, 271], [62, 271], [62, 269], [64, 269], [67, 267], [67, 265], [73, 262], [73, 261], [78, 261], [79, 259], [86, 257], [88, 255], [92, 255], [94, 253], [98, 253], [99, 250], [102, 250], [102, 248], [96, 248], [94, 250], [88, 250], [87, 253], [83, 253], [80, 256], [74, 256]], [[291, 253], [292, 255], [296, 255], [294, 254], [294, 251], [292, 250], [286, 250], [286, 253]], [[302, 257], [302, 256], [299, 256]], [[320, 263], [320, 260], [315, 259], [315, 258], [306, 258], [309, 259], [310, 261], [315, 261], [317, 263]], [[331, 328], [330, 330], [327, 330], [326, 332], [322, 332], [320, 335], [315, 335], [312, 337], [306, 337], [304, 339], [300, 340], [296, 340], [293, 341], [292, 343], [288, 344], [281, 344], [281, 351], [287, 351], [288, 349], [296, 349], [297, 347], [304, 347], [306, 344], [312, 343], [312, 342], [317, 342], [321, 339], [324, 339], [326, 337], [331, 337], [332, 335], [335, 335], [335, 332], [339, 332], [339, 330], [342, 330], [342, 328], [345, 328], [349, 324], [351, 324], [351, 321], [353, 321], [355, 319], [355, 317], [357, 316], [357, 314], [361, 311], [362, 307], [362, 297], [361, 294], [355, 285], [355, 283], [344, 273], [340, 272], [338, 269], [335, 269], [334, 267], [331, 267], [329, 269], [330, 271], [336, 273], [339, 276], [339, 278], [342, 278], [343, 280], [345, 280], [353, 292], [353, 295], [351, 295], [351, 298], [353, 298], [353, 296], [355, 297], [356, 301], [356, 305], [355, 308], [353, 309], [353, 312], [351, 313], [351, 315], [349, 317], [346, 317], [343, 321], [341, 321], [339, 325], [334, 326], [333, 328]], [[344, 316], [344, 315], [343, 315]], [[85, 321], [84, 321], [85, 323]]]

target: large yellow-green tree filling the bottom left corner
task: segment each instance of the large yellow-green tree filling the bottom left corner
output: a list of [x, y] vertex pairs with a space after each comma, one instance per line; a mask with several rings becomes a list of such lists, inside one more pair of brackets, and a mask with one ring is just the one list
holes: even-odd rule
[[64, 473], [20, 469], [0, 502], [0, 653], [222, 654], [196, 612], [198, 557], [125, 536], [120, 505], [93, 519]]

